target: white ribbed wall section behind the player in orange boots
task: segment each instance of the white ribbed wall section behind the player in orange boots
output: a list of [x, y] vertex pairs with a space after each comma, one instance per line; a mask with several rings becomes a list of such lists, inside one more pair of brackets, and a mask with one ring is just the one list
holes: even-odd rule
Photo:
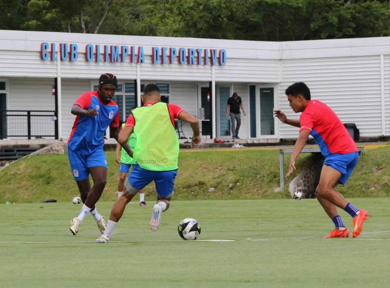
[[[305, 82], [312, 94], [330, 106], [343, 123], [355, 123], [360, 136], [381, 135], [380, 57], [340, 57], [282, 61], [279, 108], [298, 119], [289, 108], [284, 90]], [[281, 138], [296, 138], [298, 129], [280, 125]]]

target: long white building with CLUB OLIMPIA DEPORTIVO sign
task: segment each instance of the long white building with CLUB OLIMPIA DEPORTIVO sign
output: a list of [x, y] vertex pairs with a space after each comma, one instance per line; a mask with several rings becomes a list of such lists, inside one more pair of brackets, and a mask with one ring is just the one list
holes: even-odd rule
[[[360, 137], [390, 135], [389, 37], [260, 42], [0, 30], [0, 136], [67, 139], [72, 103], [105, 72], [119, 79], [114, 100], [122, 121], [140, 103], [143, 86], [157, 83], [166, 101], [204, 119], [204, 139], [231, 138], [224, 116], [233, 92], [247, 112], [240, 138], [297, 138], [298, 129], [279, 123], [272, 109], [297, 119], [284, 90], [304, 81], [312, 98], [355, 123]], [[189, 125], [183, 131], [191, 137]]]

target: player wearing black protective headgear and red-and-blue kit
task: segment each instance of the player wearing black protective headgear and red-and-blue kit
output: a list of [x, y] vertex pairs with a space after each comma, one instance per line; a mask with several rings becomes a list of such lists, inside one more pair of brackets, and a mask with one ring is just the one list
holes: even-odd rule
[[[69, 140], [68, 157], [74, 180], [84, 203], [79, 216], [71, 220], [70, 231], [76, 235], [81, 222], [90, 212], [103, 233], [106, 222], [95, 207], [107, 181], [107, 161], [103, 152], [104, 133], [110, 126], [110, 135], [118, 140], [119, 108], [112, 101], [117, 88], [117, 77], [102, 74], [97, 91], [83, 93], [74, 102], [71, 113], [76, 115]], [[89, 183], [92, 176], [93, 186]]]

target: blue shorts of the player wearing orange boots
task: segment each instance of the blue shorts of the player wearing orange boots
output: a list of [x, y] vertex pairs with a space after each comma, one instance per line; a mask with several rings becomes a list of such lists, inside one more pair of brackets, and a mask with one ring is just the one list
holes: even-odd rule
[[330, 154], [326, 156], [324, 164], [341, 173], [341, 177], [338, 179], [338, 182], [344, 185], [355, 168], [358, 158], [358, 152], [348, 154]]

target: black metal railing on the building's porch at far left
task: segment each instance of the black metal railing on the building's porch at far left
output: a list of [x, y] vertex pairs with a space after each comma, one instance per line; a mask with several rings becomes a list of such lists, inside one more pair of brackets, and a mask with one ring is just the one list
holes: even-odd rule
[[0, 110], [0, 139], [9, 137], [58, 139], [57, 111]]

